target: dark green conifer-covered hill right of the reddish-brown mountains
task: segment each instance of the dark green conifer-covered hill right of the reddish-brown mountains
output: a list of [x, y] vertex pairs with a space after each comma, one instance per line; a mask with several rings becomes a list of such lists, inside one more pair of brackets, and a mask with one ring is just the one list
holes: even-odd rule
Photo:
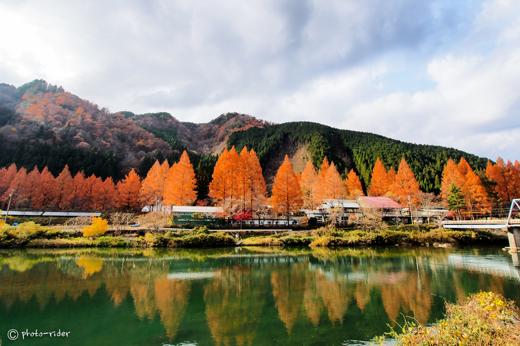
[[[484, 170], [487, 158], [453, 148], [401, 142], [368, 132], [341, 130], [310, 122], [294, 122], [266, 128], [233, 132], [228, 148], [243, 146], [254, 149], [262, 168], [277, 157], [305, 148], [311, 161], [319, 167], [323, 157], [333, 161], [341, 172], [354, 169], [363, 187], [370, 184], [370, 175], [378, 157], [386, 167], [397, 169], [404, 156], [425, 192], [439, 192], [444, 166], [449, 158], [464, 157], [477, 170]], [[266, 181], [269, 177], [266, 177]]]

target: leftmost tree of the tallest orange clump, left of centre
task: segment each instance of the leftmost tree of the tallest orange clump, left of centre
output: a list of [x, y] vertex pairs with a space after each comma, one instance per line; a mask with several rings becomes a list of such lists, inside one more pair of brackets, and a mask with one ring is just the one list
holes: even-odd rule
[[209, 196], [216, 200], [217, 205], [224, 207], [226, 213], [232, 212], [237, 204], [235, 200], [237, 194], [239, 195], [237, 187], [238, 165], [239, 156], [235, 147], [232, 147], [229, 151], [224, 149], [213, 170]]

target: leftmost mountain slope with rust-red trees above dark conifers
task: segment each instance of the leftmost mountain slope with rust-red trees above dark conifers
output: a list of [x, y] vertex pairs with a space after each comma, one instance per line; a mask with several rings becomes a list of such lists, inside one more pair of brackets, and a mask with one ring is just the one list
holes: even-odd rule
[[116, 180], [146, 154], [171, 149], [123, 115], [45, 81], [19, 88], [0, 85], [0, 166], [47, 166], [53, 175], [71, 172]]

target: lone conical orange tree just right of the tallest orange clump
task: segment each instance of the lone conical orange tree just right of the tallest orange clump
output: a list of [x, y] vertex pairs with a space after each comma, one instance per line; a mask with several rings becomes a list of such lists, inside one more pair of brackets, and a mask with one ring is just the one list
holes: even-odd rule
[[271, 203], [287, 216], [288, 225], [291, 212], [298, 211], [302, 206], [303, 196], [300, 183], [296, 174], [294, 174], [294, 167], [287, 155], [278, 168], [275, 181], [272, 184]]

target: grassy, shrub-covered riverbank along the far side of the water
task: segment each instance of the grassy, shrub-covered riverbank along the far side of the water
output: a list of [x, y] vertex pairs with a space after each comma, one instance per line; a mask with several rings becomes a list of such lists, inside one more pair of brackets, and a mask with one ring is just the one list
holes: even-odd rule
[[[375, 230], [319, 228], [308, 232], [241, 232], [240, 246], [373, 246], [373, 245], [506, 245], [505, 234], [488, 231], [452, 231], [404, 225]], [[27, 222], [0, 228], [0, 247], [227, 247], [239, 239], [230, 232], [209, 232], [205, 227], [167, 232], [105, 235], [88, 238], [81, 231], [44, 228]]]

